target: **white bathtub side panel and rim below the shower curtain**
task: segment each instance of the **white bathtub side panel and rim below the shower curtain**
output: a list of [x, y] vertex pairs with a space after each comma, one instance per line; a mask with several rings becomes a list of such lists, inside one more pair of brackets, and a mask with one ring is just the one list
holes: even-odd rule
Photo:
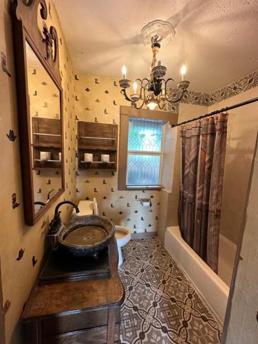
[[226, 283], [186, 244], [179, 227], [166, 228], [164, 246], [223, 323], [229, 292]]

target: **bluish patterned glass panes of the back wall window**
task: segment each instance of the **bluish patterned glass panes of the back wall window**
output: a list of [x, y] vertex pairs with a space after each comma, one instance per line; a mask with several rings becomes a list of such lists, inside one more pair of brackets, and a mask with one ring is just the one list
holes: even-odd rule
[[159, 186], [163, 122], [130, 118], [127, 186]]

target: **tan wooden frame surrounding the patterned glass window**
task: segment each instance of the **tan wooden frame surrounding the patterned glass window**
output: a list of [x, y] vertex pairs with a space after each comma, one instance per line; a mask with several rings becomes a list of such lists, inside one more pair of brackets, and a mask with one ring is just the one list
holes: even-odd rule
[[[151, 120], [162, 120], [164, 125], [169, 122], [170, 125], [178, 122], [178, 114], [168, 111], [156, 111], [148, 109], [135, 109], [134, 107], [120, 106], [120, 131], [119, 131], [119, 160], [118, 160], [118, 190], [160, 190], [162, 178], [162, 166], [164, 158], [164, 126], [162, 132], [162, 155], [160, 158], [160, 186], [127, 186], [127, 156], [128, 156], [128, 130], [129, 118], [146, 118]], [[143, 151], [142, 151], [143, 152]], [[139, 153], [139, 152], [138, 152]], [[147, 153], [147, 152], [144, 152]], [[151, 154], [154, 154], [151, 152]], [[160, 153], [158, 153], [160, 155]]]

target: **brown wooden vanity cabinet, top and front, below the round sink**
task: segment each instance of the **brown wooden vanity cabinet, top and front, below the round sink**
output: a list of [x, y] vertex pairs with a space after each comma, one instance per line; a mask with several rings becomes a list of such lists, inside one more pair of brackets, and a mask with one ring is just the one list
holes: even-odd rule
[[115, 237], [110, 251], [110, 278], [34, 288], [23, 311], [25, 343], [120, 343], [125, 291], [118, 276]]

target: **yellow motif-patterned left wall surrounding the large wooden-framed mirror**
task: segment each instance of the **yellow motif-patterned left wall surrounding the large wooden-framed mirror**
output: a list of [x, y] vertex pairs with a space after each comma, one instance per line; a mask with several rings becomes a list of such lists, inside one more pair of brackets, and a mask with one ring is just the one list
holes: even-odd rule
[[[47, 1], [47, 8], [49, 8]], [[1, 103], [1, 208], [0, 208], [0, 258], [1, 283], [3, 289], [3, 303], [10, 301], [10, 308], [6, 312], [6, 343], [10, 342], [14, 327], [19, 321], [23, 305], [28, 299], [36, 276], [41, 265], [44, 252], [45, 226], [43, 221], [52, 219], [54, 205], [33, 226], [25, 226], [23, 217], [23, 190], [21, 186], [21, 165], [19, 154], [19, 131], [17, 100], [15, 90], [14, 52], [12, 50], [12, 23], [8, 13], [8, 0], [1, 0], [0, 8], [0, 51], [6, 54], [7, 65], [11, 77], [0, 69], [0, 103]], [[65, 193], [57, 202], [64, 198], [75, 199], [75, 116], [74, 116], [74, 76], [72, 63], [65, 47], [65, 39], [61, 32], [58, 16], [51, 2], [52, 25], [55, 26], [59, 43], [60, 69], [63, 74], [62, 85], [64, 89], [64, 134], [65, 134]], [[48, 22], [48, 25], [50, 24]], [[6, 133], [14, 130], [17, 139], [8, 140]], [[17, 208], [12, 208], [12, 193], [17, 194]], [[56, 203], [57, 203], [56, 202]], [[63, 219], [69, 212], [63, 206]], [[17, 261], [18, 252], [25, 248], [23, 258]], [[32, 256], [38, 259], [32, 266]]]

